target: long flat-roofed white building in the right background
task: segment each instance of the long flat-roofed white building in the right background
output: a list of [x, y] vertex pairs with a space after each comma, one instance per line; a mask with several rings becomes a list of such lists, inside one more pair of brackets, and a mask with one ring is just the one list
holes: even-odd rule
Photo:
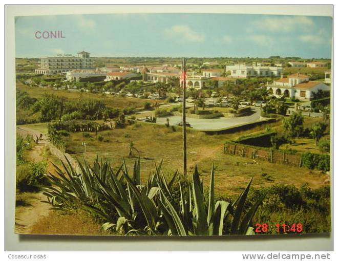
[[236, 64], [234, 66], [226, 66], [226, 71], [230, 71], [231, 77], [247, 78], [251, 77], [271, 77], [281, 76], [281, 67], [272, 66], [246, 66], [245, 64]]

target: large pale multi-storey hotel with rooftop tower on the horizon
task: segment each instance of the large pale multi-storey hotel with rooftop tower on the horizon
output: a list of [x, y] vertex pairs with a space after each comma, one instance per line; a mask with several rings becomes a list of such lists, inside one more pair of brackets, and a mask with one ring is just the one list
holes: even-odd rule
[[77, 56], [71, 54], [58, 54], [56, 56], [44, 57], [40, 60], [40, 66], [35, 70], [36, 74], [65, 73], [74, 69], [92, 69], [94, 59], [90, 53], [82, 51]]

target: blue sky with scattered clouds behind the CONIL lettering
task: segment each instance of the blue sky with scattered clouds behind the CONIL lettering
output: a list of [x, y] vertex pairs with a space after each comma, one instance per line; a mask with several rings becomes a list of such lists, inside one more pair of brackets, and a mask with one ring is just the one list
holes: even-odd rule
[[[332, 19], [243, 14], [20, 16], [16, 57], [76, 54], [155, 57], [330, 58]], [[62, 30], [66, 38], [36, 39]]]

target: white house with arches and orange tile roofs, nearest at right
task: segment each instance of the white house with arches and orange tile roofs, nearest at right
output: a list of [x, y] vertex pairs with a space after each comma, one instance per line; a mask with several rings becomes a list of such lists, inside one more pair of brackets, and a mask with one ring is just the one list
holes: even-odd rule
[[309, 81], [309, 76], [304, 74], [291, 74], [287, 78], [280, 78], [266, 85], [269, 93], [280, 98], [311, 100], [312, 93], [319, 90], [330, 91], [330, 87], [323, 82]]

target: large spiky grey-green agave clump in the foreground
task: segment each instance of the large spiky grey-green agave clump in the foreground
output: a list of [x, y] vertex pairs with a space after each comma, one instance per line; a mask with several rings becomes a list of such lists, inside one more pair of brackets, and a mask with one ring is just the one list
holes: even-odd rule
[[[67, 158], [66, 158], [67, 159]], [[251, 181], [237, 201], [215, 203], [214, 165], [210, 173], [208, 203], [204, 203], [203, 183], [197, 166], [191, 183], [183, 186], [176, 171], [167, 182], [161, 170], [162, 161], [155, 163], [145, 184], [141, 184], [140, 159], [134, 163], [130, 175], [123, 160], [114, 171], [108, 162], [99, 163], [96, 158], [93, 167], [86, 161], [79, 163], [78, 173], [70, 162], [62, 163], [65, 173], [55, 166], [59, 177], [49, 173], [51, 186], [45, 187], [50, 204], [55, 208], [81, 202], [81, 207], [99, 215], [105, 223], [102, 229], [115, 229], [121, 234], [148, 235], [223, 235], [250, 234], [250, 223], [265, 195], [249, 210], [245, 202]], [[178, 186], [174, 182], [178, 180]], [[179, 200], [175, 191], [179, 190]], [[228, 219], [228, 222], [225, 222]], [[225, 224], [230, 227], [225, 228]]]

